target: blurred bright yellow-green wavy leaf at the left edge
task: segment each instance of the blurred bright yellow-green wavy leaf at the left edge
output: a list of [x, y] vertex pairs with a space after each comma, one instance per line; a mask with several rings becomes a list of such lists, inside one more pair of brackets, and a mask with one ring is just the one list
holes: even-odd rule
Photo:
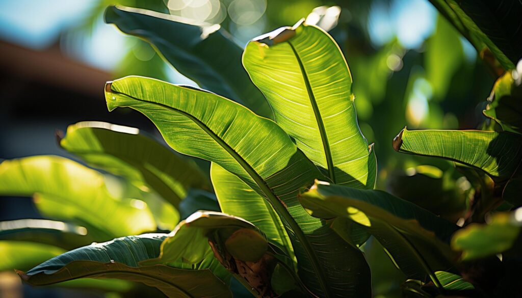
[[1, 195], [34, 195], [43, 214], [84, 225], [96, 239], [157, 228], [143, 198], [124, 196], [125, 186], [119, 180], [62, 157], [5, 160], [0, 164], [0, 181]]

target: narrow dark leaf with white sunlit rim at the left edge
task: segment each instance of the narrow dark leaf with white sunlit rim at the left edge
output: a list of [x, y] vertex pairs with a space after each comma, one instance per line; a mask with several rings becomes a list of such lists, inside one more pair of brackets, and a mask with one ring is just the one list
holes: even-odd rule
[[0, 221], [0, 240], [32, 241], [64, 249], [77, 248], [94, 241], [87, 235], [85, 227], [46, 219]]

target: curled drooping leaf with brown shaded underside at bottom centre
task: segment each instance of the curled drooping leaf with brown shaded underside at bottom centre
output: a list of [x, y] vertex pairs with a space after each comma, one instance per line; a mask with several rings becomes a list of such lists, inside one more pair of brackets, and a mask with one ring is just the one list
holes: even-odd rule
[[182, 221], [163, 242], [160, 257], [151, 262], [169, 265], [182, 260], [191, 264], [212, 254], [238, 281], [260, 297], [275, 295], [271, 287], [275, 267], [288, 268], [286, 258], [280, 260], [274, 254], [266, 236], [255, 225], [211, 211], [196, 212]]

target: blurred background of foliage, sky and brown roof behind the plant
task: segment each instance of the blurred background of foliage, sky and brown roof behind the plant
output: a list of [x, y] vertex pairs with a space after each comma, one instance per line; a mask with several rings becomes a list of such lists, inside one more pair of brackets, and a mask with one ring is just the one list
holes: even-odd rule
[[[428, 0], [1, 1], [0, 49], [11, 56], [0, 58], [0, 158], [32, 154], [70, 157], [56, 145], [54, 129], [65, 130], [82, 120], [109, 120], [158, 135], [137, 113], [106, 115], [105, 80], [141, 75], [196, 86], [165, 63], [148, 43], [106, 25], [103, 12], [112, 4], [217, 23], [241, 46], [326, 6], [323, 14], [334, 19], [338, 16], [330, 34], [352, 73], [359, 125], [375, 143], [377, 188], [450, 220], [456, 221], [466, 212], [473, 189], [452, 163], [398, 154], [391, 146], [405, 124], [410, 129], [473, 129], [486, 120], [482, 110], [496, 76]], [[333, 5], [340, 9], [327, 9]], [[26, 57], [23, 55], [43, 55], [49, 63], [32, 67], [43, 68], [44, 74], [30, 73], [28, 65], [17, 63], [16, 58]], [[72, 63], [81, 71], [68, 73], [77, 68], [54, 64], [53, 59]], [[72, 80], [70, 84], [59, 81], [60, 73]], [[92, 82], [80, 81], [84, 80], [81, 74], [92, 77]], [[430, 199], [441, 197], [445, 200]], [[0, 220], [42, 218], [30, 199], [0, 198], [0, 207]], [[371, 256], [367, 259], [373, 281], [378, 282], [374, 294], [398, 295], [405, 277], [377, 245], [377, 241], [364, 245]], [[68, 293], [24, 291], [32, 296]]]

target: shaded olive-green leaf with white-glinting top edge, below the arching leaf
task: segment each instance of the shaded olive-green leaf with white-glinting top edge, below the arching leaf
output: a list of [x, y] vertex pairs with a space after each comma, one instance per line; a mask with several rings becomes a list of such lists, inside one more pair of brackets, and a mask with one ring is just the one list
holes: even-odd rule
[[209, 188], [194, 162], [183, 159], [139, 129], [104, 122], [67, 127], [60, 146], [97, 168], [148, 186], [178, 206], [193, 187]]

